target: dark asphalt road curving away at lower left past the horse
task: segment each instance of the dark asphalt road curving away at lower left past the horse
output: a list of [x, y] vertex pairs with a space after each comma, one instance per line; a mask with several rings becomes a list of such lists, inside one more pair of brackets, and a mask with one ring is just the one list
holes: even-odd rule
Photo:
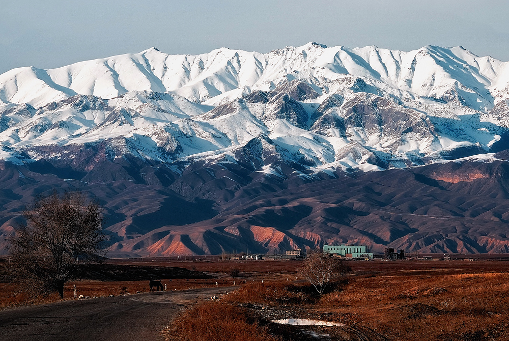
[[0, 311], [2, 341], [153, 341], [182, 305], [235, 287], [54, 302]]

